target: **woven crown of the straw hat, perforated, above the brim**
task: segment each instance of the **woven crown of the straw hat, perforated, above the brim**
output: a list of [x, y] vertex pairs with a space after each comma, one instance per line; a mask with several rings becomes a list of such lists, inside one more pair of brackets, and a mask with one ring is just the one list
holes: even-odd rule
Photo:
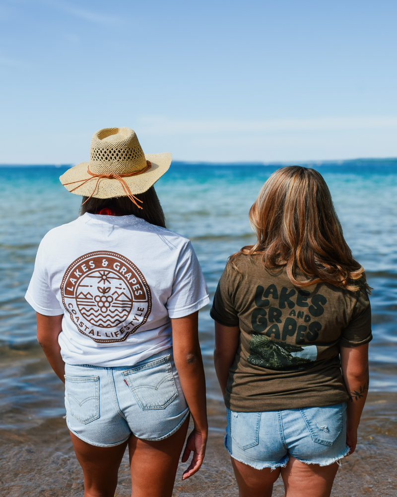
[[145, 155], [130, 128], [105, 128], [91, 140], [89, 168], [96, 174], [128, 174], [146, 167]]

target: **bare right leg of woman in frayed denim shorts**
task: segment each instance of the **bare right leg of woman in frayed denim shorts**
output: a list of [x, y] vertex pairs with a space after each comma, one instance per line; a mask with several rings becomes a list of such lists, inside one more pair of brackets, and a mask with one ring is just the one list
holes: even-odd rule
[[285, 497], [330, 497], [337, 470], [337, 463], [305, 464], [289, 456], [287, 466], [281, 468]]

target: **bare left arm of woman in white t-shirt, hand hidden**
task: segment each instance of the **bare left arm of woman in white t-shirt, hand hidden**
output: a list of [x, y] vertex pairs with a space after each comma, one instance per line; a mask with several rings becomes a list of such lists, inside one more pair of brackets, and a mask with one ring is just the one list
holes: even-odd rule
[[61, 316], [44, 316], [36, 313], [37, 319], [37, 340], [44, 350], [50, 366], [56, 375], [65, 383], [65, 362], [61, 356], [61, 347], [58, 343], [58, 335], [62, 331]]

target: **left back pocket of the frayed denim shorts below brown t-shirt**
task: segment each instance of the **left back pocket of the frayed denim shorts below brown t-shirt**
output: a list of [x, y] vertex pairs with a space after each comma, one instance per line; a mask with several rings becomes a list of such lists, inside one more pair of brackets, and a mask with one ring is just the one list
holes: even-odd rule
[[261, 413], [236, 413], [227, 410], [227, 428], [229, 435], [243, 449], [258, 445]]

